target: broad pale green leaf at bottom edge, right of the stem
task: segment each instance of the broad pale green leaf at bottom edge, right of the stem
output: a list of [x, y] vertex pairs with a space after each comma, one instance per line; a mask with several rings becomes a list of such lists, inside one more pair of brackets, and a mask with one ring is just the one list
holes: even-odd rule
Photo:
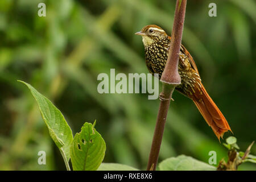
[[160, 171], [214, 171], [216, 167], [193, 159], [190, 156], [179, 155], [168, 158], [159, 164]]

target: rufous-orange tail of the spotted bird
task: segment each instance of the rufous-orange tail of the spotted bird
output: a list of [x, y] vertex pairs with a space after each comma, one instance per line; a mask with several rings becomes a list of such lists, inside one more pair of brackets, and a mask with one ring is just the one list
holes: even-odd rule
[[200, 85], [201, 92], [197, 93], [196, 97], [192, 98], [192, 100], [203, 115], [205, 121], [210, 127], [212, 127], [212, 130], [218, 140], [220, 140], [220, 137], [222, 138], [226, 131], [230, 130], [232, 132], [232, 130], [220, 109], [218, 109], [217, 105], [205, 90], [204, 85]]

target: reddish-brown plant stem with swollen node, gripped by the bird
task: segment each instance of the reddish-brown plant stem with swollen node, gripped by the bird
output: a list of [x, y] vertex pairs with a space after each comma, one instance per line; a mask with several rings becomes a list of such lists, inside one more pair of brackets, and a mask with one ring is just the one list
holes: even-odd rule
[[163, 82], [163, 91], [160, 93], [160, 106], [158, 118], [156, 120], [154, 137], [152, 139], [150, 156], [148, 159], [147, 170], [155, 170], [158, 162], [160, 146], [162, 143], [164, 125], [166, 123], [167, 113], [170, 105], [172, 92], [180, 84], [181, 78], [177, 71], [179, 63], [179, 52], [181, 46], [181, 37], [185, 18], [185, 7], [187, 0], [177, 0], [174, 26], [172, 28], [171, 46], [168, 54], [166, 67], [164, 68], [160, 81]]

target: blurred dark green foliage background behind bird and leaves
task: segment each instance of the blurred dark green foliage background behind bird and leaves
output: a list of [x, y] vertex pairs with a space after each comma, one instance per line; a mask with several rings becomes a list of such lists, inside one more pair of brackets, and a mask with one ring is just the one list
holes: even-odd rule
[[[46, 3], [46, 17], [38, 3]], [[217, 4], [217, 17], [208, 5]], [[147, 94], [99, 94], [97, 76], [148, 73], [142, 39], [134, 32], [158, 24], [171, 35], [174, 0], [1, 0], [0, 169], [65, 170], [48, 134], [30, 83], [64, 114], [73, 134], [97, 119], [106, 142], [104, 162], [146, 169], [159, 100]], [[256, 130], [256, 3], [253, 0], [188, 1], [183, 44], [205, 88], [245, 151]], [[161, 86], [159, 86], [161, 88]], [[227, 156], [191, 100], [175, 92], [159, 161], [180, 154], [208, 163]], [[231, 133], [226, 133], [224, 139]], [[38, 164], [46, 151], [47, 165]], [[256, 145], [251, 149], [256, 154]], [[241, 170], [256, 170], [242, 164]]]

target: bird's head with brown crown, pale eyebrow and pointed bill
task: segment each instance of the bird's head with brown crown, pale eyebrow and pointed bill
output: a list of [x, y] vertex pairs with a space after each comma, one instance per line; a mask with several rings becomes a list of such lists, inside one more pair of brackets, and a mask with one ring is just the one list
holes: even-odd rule
[[142, 30], [136, 32], [135, 35], [142, 36], [142, 42], [145, 47], [150, 46], [152, 43], [157, 42], [160, 39], [166, 37], [168, 38], [166, 32], [159, 26], [156, 26], [155, 24], [150, 24], [148, 26], [143, 27]]

